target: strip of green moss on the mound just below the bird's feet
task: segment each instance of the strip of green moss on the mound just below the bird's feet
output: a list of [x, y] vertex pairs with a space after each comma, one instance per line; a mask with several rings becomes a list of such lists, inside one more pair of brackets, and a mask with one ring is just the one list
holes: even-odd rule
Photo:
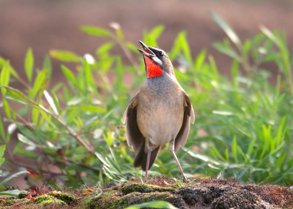
[[123, 194], [129, 194], [132, 192], [140, 192], [140, 193], [149, 193], [154, 191], [164, 192], [170, 191], [174, 192], [175, 189], [171, 187], [163, 187], [163, 186], [155, 186], [150, 184], [141, 184], [141, 183], [125, 183], [121, 187], [121, 191]]

